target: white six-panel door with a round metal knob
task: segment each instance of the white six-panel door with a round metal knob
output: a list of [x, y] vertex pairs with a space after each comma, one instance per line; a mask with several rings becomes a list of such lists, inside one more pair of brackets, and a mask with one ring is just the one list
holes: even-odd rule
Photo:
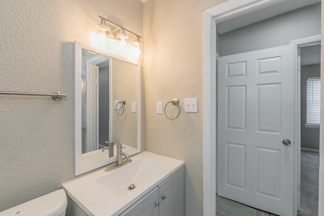
[[293, 137], [294, 46], [220, 57], [218, 195], [292, 216]]

